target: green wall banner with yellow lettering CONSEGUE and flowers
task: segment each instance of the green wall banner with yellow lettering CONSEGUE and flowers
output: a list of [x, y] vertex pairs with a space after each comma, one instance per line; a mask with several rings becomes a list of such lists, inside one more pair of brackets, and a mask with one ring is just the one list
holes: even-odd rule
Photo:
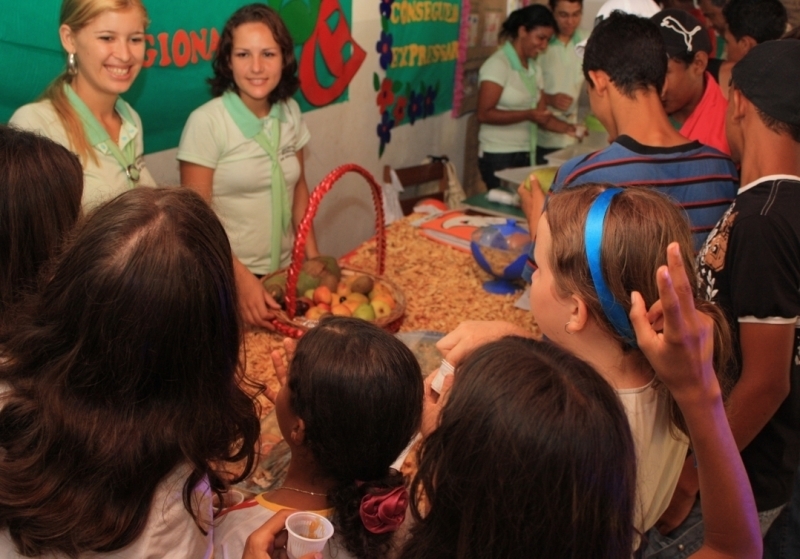
[[392, 129], [449, 111], [458, 59], [459, 0], [380, 0], [375, 45], [385, 75], [373, 74], [379, 156]]

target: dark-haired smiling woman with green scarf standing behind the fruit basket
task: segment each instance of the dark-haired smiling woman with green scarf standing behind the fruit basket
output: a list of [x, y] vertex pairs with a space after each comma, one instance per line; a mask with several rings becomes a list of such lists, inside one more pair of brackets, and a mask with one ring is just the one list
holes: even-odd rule
[[[265, 4], [243, 6], [222, 30], [213, 68], [214, 99], [181, 136], [181, 184], [212, 205], [228, 233], [244, 320], [271, 329], [278, 305], [259, 278], [289, 264], [308, 207], [310, 136], [291, 97], [299, 81], [289, 30]], [[306, 255], [318, 254], [311, 230]]]

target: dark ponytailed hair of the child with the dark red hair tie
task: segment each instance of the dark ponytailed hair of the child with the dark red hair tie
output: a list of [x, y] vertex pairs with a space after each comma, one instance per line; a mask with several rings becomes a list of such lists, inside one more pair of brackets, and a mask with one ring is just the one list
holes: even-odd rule
[[414, 355], [373, 324], [331, 317], [298, 342], [288, 387], [292, 411], [305, 422], [303, 444], [336, 480], [328, 502], [339, 542], [359, 559], [385, 557], [394, 532], [368, 530], [362, 500], [405, 491], [403, 476], [390, 466], [422, 415]]

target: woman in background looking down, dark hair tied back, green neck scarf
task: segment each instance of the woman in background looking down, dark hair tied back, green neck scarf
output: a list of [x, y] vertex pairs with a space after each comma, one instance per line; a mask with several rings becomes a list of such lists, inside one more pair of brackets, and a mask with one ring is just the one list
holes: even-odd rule
[[520, 8], [503, 22], [500, 39], [505, 43], [481, 66], [478, 168], [488, 188], [500, 186], [496, 171], [535, 163], [539, 126], [575, 136], [574, 125], [547, 111], [536, 61], [555, 29], [556, 20], [545, 6]]

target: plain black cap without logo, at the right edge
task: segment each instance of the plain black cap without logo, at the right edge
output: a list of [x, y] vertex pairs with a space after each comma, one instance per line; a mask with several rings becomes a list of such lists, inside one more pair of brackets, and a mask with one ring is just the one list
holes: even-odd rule
[[733, 83], [761, 112], [800, 126], [800, 41], [756, 45], [732, 70]]

